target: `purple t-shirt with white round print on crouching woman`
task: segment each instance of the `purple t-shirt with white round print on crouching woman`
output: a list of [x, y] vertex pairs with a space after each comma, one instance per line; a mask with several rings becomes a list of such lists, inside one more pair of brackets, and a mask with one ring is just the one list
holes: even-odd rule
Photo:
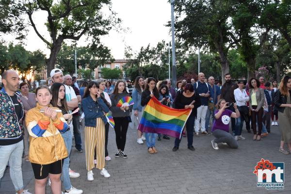
[[[218, 111], [219, 110], [215, 110], [214, 114], [218, 113]], [[231, 110], [225, 109], [225, 111], [222, 112], [220, 118], [214, 120], [211, 131], [213, 132], [216, 129], [221, 129], [228, 132], [229, 131], [228, 124], [230, 122], [231, 113], [232, 113]]]

